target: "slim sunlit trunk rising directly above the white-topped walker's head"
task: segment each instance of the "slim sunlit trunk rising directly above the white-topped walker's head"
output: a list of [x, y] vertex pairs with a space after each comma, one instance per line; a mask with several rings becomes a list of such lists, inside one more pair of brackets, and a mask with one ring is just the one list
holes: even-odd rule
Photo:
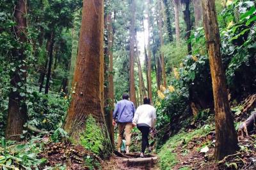
[[152, 80], [151, 80], [151, 52], [150, 52], [150, 1], [147, 0], [147, 20], [148, 20], [148, 57], [147, 57], [147, 62], [148, 62], [148, 97], [153, 101], [152, 99]]

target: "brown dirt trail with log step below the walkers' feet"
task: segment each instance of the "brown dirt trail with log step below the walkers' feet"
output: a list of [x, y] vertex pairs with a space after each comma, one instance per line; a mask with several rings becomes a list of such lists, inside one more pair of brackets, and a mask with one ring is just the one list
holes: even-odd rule
[[[156, 155], [145, 155], [145, 158], [153, 158], [156, 157]], [[127, 159], [136, 159], [136, 162], [132, 161], [124, 161]], [[102, 165], [102, 168], [104, 170], [158, 170], [157, 167], [157, 160], [144, 160], [144, 161], [138, 161], [140, 159], [139, 153], [131, 153], [125, 155], [125, 157], [118, 157], [116, 155], [113, 155], [111, 159], [107, 162], [105, 162]]]

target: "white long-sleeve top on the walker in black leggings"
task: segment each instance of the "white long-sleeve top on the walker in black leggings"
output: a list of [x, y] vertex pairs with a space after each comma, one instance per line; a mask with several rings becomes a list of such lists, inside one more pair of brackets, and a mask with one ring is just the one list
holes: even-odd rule
[[154, 127], [156, 122], [156, 108], [150, 104], [139, 106], [134, 114], [132, 122], [135, 124], [147, 124], [150, 127]]

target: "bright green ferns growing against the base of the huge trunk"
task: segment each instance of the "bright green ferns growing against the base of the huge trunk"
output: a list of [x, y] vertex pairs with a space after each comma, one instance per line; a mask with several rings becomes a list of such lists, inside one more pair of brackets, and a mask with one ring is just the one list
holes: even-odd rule
[[95, 122], [92, 116], [89, 116], [86, 120], [86, 127], [83, 134], [80, 136], [81, 145], [84, 146], [86, 150], [100, 155], [104, 150], [104, 135], [102, 134], [102, 129], [100, 129], [99, 124]]

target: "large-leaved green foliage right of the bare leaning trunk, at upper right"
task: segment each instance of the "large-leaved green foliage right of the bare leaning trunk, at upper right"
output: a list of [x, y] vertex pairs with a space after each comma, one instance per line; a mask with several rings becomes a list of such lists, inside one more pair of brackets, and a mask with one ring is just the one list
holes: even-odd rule
[[221, 52], [232, 97], [255, 92], [255, 13], [253, 1], [234, 1], [222, 12], [228, 25], [221, 28]]

